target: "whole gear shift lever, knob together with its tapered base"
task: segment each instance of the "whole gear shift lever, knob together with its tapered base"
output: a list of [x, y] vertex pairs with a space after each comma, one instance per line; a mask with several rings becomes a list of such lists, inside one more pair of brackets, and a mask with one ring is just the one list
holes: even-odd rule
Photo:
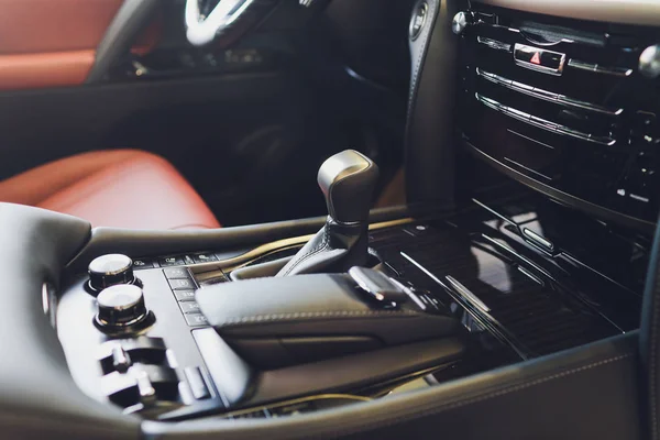
[[369, 211], [378, 166], [354, 150], [338, 153], [319, 168], [326, 196], [326, 226], [284, 266], [277, 276], [345, 272], [369, 258]]

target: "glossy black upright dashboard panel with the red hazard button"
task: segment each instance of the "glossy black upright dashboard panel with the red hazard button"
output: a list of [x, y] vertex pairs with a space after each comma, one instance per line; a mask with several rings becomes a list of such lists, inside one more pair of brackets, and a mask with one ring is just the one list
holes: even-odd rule
[[[660, 96], [637, 66], [657, 32], [477, 3], [471, 16], [458, 36], [459, 135], [474, 157], [593, 216], [651, 230]], [[552, 53], [561, 68], [541, 70]]]

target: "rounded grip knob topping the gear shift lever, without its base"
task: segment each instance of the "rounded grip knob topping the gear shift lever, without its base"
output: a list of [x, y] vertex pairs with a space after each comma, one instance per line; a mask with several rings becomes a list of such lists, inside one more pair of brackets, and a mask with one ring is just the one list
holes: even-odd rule
[[318, 175], [328, 212], [341, 224], [367, 221], [377, 180], [378, 166], [354, 150], [328, 158]]

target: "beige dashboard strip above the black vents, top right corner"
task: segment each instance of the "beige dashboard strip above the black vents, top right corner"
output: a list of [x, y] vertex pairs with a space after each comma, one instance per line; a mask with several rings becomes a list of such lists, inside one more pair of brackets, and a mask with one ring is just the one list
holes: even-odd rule
[[472, 0], [475, 3], [568, 19], [660, 25], [657, 0]]

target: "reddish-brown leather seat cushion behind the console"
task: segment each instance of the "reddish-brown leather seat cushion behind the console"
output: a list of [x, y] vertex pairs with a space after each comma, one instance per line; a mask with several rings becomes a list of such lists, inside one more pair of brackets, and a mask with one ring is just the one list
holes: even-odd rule
[[220, 227], [169, 162], [138, 150], [84, 153], [30, 169], [0, 182], [0, 201], [68, 213], [94, 227]]

